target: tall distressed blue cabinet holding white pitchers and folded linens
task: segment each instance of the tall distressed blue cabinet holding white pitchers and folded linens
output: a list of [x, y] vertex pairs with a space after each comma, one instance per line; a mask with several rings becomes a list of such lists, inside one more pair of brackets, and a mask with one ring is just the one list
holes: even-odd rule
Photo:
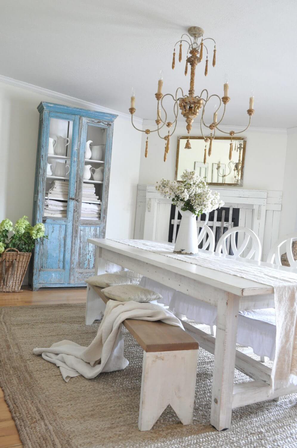
[[[117, 116], [45, 102], [38, 111], [33, 224], [43, 222], [48, 239], [35, 246], [30, 284], [34, 290], [85, 286], [84, 279], [94, 273], [94, 249], [87, 239], [105, 237], [106, 232]], [[102, 151], [100, 159], [85, 153], [89, 142], [98, 146], [97, 153]], [[102, 167], [95, 175], [98, 180], [91, 167]]]

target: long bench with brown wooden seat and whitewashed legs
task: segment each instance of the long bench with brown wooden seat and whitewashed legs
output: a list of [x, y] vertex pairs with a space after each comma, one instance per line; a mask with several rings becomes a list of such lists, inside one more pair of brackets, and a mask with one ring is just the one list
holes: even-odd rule
[[[104, 313], [108, 299], [102, 288], [88, 285], [88, 298], [102, 299]], [[98, 310], [98, 306], [97, 306]], [[124, 327], [143, 348], [138, 427], [148, 431], [168, 405], [174, 409], [183, 425], [193, 418], [198, 342], [167, 323], [126, 319]]]

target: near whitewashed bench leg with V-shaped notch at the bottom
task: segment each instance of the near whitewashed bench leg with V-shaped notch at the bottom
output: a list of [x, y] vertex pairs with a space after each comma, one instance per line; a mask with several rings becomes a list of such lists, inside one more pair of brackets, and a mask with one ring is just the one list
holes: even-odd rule
[[198, 350], [143, 355], [138, 427], [148, 431], [168, 405], [183, 425], [193, 418]]

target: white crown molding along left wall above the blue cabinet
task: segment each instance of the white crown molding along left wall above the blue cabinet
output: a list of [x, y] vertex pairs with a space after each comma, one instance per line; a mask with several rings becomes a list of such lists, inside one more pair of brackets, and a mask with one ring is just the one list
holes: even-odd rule
[[[55, 92], [54, 90], [45, 89], [43, 87], [34, 86], [34, 84], [29, 84], [28, 82], [18, 81], [17, 79], [8, 78], [8, 76], [0, 75], [0, 82], [4, 82], [5, 84], [9, 84], [11, 86], [20, 87], [21, 89], [30, 90], [34, 93], [39, 93], [41, 95], [46, 95], [51, 98], [55, 98], [58, 101], [62, 101], [63, 103], [70, 103], [73, 106], [79, 106], [85, 109], [90, 109], [98, 112], [106, 112], [118, 115], [123, 120], [131, 121], [131, 114], [123, 113], [119, 111], [115, 111], [114, 109], [105, 108], [104, 106], [100, 106], [99, 104], [89, 103], [89, 101], [85, 101], [83, 99], [74, 98], [69, 95], [64, 95], [63, 93]], [[142, 125], [142, 118], [133, 117], [133, 121], [138, 125]]]

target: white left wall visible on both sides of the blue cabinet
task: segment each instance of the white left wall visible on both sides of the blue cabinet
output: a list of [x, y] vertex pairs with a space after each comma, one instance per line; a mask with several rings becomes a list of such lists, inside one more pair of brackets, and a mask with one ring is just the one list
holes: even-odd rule
[[[32, 218], [40, 101], [79, 105], [78, 100], [55, 92], [51, 96], [30, 85], [0, 82], [0, 221], [8, 217], [15, 222], [23, 215]], [[81, 107], [86, 108], [83, 102]], [[141, 134], [132, 128], [130, 116], [119, 116], [111, 158], [108, 237], [133, 237], [140, 142]]]

